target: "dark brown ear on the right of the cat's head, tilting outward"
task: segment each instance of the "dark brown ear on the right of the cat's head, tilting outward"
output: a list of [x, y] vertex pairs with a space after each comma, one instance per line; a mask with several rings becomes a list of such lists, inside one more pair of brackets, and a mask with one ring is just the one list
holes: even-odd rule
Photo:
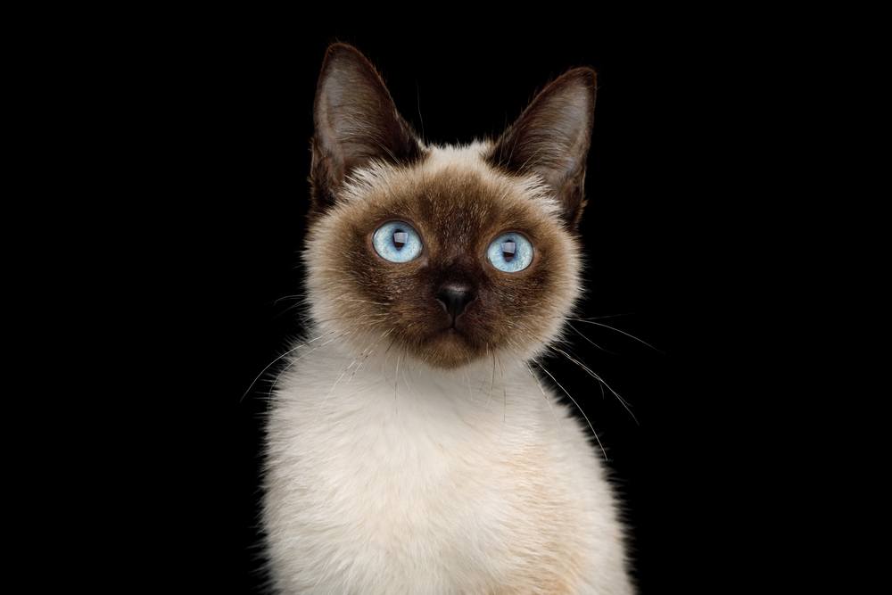
[[575, 228], [585, 206], [585, 164], [595, 109], [595, 71], [569, 70], [545, 87], [488, 156], [512, 173], [539, 174]]

